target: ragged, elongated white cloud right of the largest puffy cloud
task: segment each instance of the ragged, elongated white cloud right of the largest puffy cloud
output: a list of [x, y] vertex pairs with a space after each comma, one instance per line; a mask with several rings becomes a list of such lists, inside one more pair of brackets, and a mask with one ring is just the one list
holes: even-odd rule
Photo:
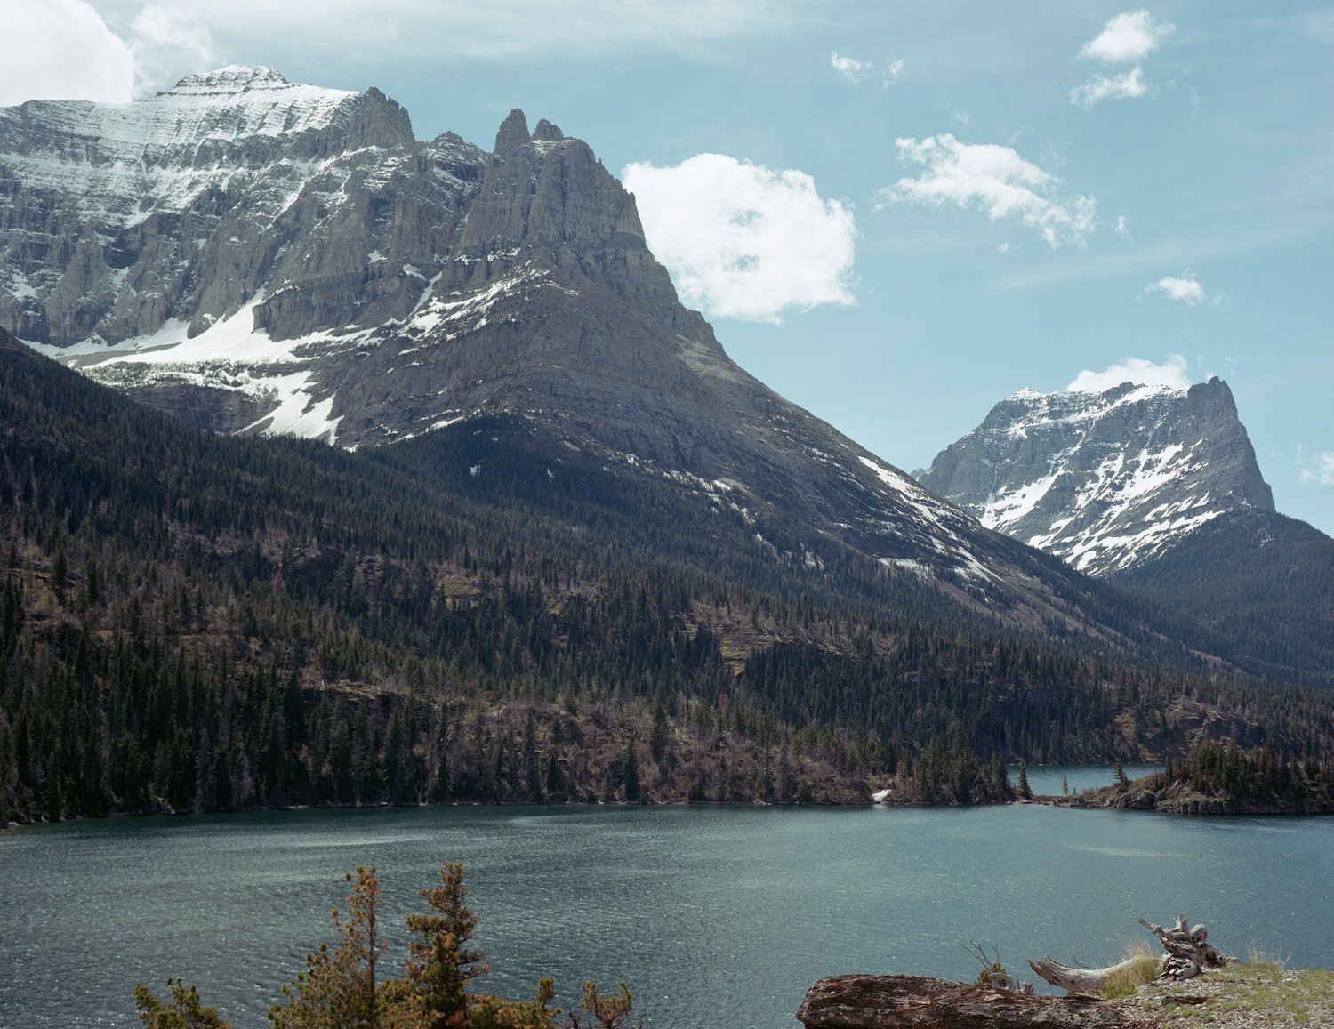
[[1062, 180], [1025, 160], [1011, 147], [960, 143], [948, 132], [920, 143], [896, 140], [899, 160], [922, 164], [916, 179], [899, 179], [876, 194], [876, 210], [892, 203], [976, 208], [992, 220], [1018, 218], [1055, 248], [1083, 246], [1098, 224], [1098, 202], [1065, 196]]

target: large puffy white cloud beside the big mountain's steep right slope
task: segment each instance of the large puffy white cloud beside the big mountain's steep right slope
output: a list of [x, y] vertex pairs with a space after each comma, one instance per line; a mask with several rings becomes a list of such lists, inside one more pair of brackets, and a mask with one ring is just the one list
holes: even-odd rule
[[674, 168], [630, 164], [622, 179], [687, 304], [779, 322], [788, 311], [855, 303], [852, 212], [822, 199], [806, 172], [700, 153]]

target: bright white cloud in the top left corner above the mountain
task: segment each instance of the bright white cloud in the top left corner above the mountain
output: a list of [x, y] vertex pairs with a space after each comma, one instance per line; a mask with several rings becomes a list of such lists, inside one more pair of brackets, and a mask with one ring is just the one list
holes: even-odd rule
[[87, 0], [0, 0], [0, 105], [133, 99], [133, 57]]

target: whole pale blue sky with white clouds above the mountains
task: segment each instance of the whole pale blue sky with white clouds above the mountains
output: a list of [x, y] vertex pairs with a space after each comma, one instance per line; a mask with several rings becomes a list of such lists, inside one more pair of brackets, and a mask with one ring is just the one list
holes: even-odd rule
[[231, 63], [590, 143], [747, 371], [908, 471], [1022, 387], [1233, 388], [1334, 534], [1334, 4], [0, 0], [0, 104]]

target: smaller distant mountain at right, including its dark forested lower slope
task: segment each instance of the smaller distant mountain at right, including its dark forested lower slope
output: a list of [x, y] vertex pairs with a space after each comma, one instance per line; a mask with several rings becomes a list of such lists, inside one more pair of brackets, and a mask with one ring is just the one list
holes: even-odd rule
[[1022, 390], [918, 479], [1002, 533], [1115, 582], [1177, 635], [1327, 685], [1334, 541], [1274, 510], [1227, 384]]

